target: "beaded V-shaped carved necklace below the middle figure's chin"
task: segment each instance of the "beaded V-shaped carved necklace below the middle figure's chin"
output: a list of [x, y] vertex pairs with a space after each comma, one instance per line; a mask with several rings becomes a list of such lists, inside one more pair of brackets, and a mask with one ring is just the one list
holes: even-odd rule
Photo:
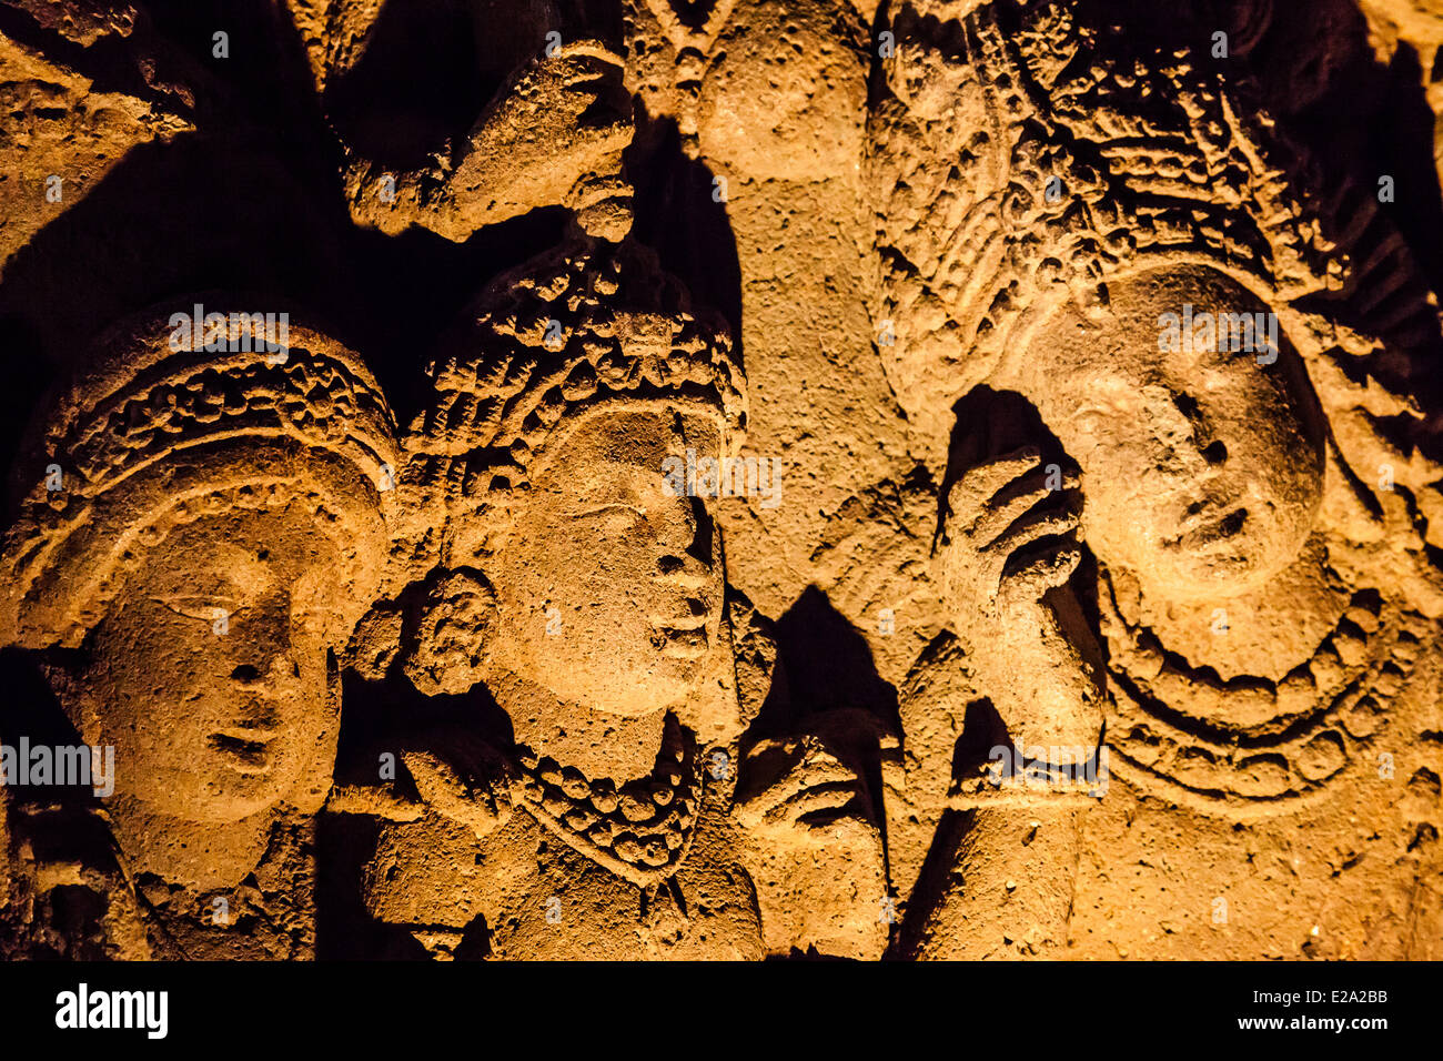
[[651, 774], [620, 788], [530, 748], [517, 751], [527, 813], [582, 855], [641, 888], [661, 883], [687, 857], [703, 781], [675, 719], [667, 719]]

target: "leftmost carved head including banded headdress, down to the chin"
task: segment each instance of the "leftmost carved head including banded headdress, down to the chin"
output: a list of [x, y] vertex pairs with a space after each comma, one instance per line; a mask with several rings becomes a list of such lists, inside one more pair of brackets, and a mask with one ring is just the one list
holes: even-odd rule
[[195, 821], [315, 808], [330, 652], [387, 553], [390, 410], [306, 328], [274, 364], [165, 322], [108, 333], [32, 432], [7, 619], [26, 647], [78, 650], [48, 670], [82, 739], [114, 745], [117, 793]]

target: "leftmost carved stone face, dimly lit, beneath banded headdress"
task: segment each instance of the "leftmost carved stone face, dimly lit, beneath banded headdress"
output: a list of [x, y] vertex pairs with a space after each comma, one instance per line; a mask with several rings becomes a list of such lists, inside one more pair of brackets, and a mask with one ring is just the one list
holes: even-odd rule
[[234, 821], [312, 775], [323, 784], [339, 570], [299, 501], [206, 515], [146, 553], [94, 632], [87, 676], [81, 728], [115, 746], [117, 791]]

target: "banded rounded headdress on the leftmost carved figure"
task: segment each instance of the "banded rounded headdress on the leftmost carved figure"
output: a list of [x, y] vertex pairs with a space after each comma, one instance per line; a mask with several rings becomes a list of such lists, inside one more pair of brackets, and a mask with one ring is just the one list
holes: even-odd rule
[[6, 642], [78, 645], [170, 527], [297, 494], [346, 575], [375, 577], [384, 537], [361, 538], [384, 530], [398, 456], [371, 372], [289, 315], [281, 346], [260, 315], [177, 325], [190, 309], [110, 329], [32, 423], [12, 476]]

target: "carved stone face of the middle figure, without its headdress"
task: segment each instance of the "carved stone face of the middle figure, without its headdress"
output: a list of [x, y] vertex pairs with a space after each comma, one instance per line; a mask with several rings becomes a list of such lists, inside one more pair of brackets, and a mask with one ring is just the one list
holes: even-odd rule
[[720, 537], [672, 495], [667, 458], [719, 456], [714, 419], [655, 400], [603, 407], [553, 436], [488, 575], [494, 660], [561, 700], [613, 715], [696, 691], [719, 647]]

